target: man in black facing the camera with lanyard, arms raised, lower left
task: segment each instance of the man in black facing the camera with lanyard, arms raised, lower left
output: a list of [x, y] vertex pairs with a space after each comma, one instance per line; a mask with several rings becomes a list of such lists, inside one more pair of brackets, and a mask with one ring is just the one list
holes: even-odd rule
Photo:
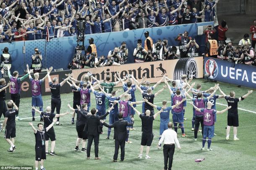
[[35, 160], [35, 168], [38, 170], [38, 164], [40, 161], [40, 170], [45, 170], [44, 168], [44, 160], [46, 160], [46, 154], [45, 154], [45, 133], [52, 128], [54, 123], [57, 121], [57, 118], [53, 119], [52, 123], [47, 127], [43, 128], [43, 124], [39, 123], [37, 124], [38, 130], [33, 126], [32, 122], [29, 122], [29, 125], [34, 130], [34, 134], [36, 137], [36, 160]]

